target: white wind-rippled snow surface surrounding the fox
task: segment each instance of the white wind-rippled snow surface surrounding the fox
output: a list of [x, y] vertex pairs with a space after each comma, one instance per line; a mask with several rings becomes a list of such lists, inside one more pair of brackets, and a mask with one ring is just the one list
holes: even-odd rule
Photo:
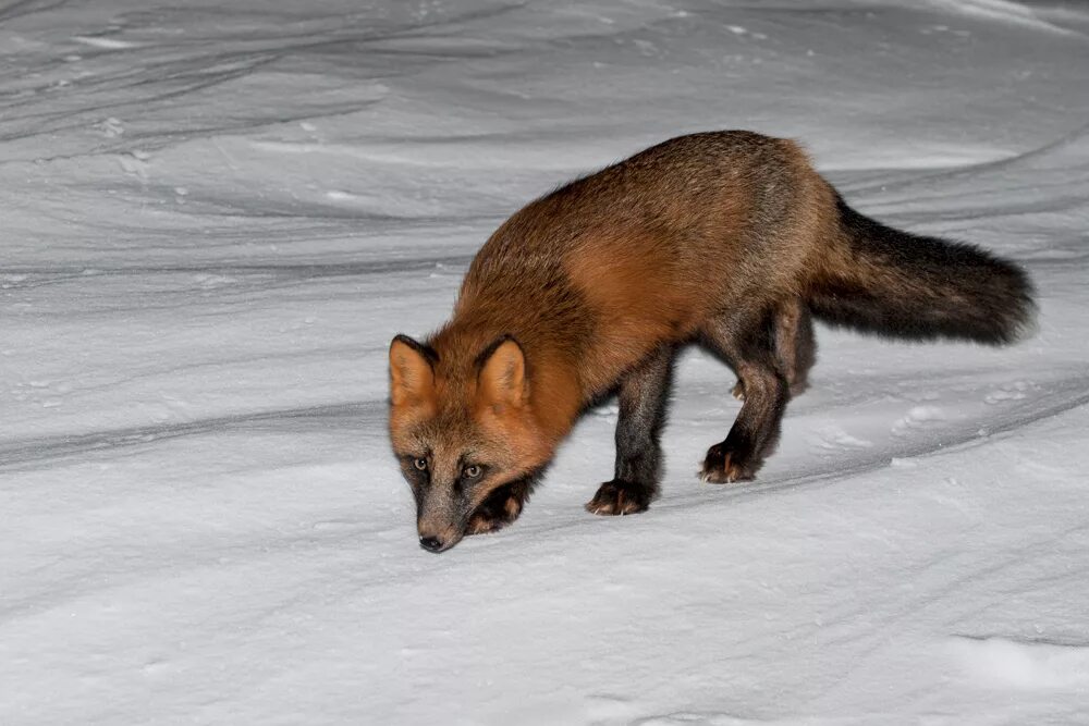
[[[1089, 723], [1089, 9], [0, 3], [0, 723]], [[662, 499], [591, 411], [441, 556], [386, 352], [492, 229], [684, 132], [1027, 266], [1036, 335], [819, 331], [758, 482], [693, 352]]]

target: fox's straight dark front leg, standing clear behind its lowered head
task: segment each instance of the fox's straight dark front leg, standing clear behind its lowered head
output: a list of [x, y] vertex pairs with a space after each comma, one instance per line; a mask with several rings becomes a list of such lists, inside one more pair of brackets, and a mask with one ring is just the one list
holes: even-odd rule
[[673, 346], [661, 346], [635, 367], [620, 384], [616, 421], [616, 467], [612, 481], [601, 484], [586, 509], [600, 515], [644, 512], [658, 496], [662, 450], [673, 371]]

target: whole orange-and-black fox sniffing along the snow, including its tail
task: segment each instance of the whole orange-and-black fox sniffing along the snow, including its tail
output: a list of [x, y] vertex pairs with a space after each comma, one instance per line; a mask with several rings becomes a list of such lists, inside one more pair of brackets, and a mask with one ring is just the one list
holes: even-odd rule
[[659, 495], [674, 360], [700, 345], [743, 401], [705, 482], [754, 479], [816, 361], [813, 319], [909, 341], [1001, 345], [1030, 327], [1016, 263], [847, 206], [791, 139], [678, 136], [514, 213], [469, 264], [453, 315], [389, 349], [390, 440], [419, 544], [515, 521], [578, 417], [615, 395], [613, 478], [585, 508]]

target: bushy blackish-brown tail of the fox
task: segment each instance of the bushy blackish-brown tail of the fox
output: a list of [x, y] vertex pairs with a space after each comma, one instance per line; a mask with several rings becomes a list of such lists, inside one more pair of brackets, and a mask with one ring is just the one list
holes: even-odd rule
[[971, 245], [901, 232], [836, 195], [840, 239], [816, 271], [809, 305], [834, 325], [999, 345], [1035, 312], [1025, 271]]

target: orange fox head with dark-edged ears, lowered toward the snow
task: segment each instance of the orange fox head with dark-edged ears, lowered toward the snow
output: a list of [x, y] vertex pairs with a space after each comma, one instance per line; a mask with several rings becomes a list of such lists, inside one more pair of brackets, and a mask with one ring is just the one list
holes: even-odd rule
[[[504, 335], [480, 350], [397, 335], [390, 345], [390, 434], [416, 499], [420, 545], [442, 552], [500, 489], [529, 479], [552, 444], [534, 415], [525, 353]], [[463, 354], [463, 355], [458, 355]]]

